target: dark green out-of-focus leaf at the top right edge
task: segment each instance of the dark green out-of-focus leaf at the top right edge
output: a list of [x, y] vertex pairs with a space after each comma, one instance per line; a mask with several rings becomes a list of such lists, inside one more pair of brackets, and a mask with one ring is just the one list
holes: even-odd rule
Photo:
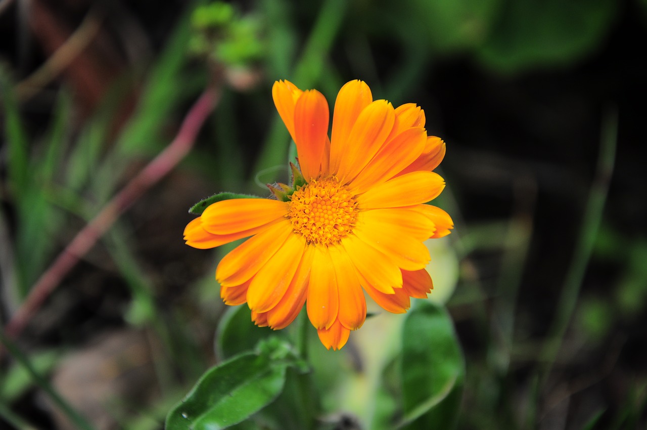
[[504, 73], [567, 65], [599, 45], [617, 6], [615, 0], [507, 0], [478, 57]]

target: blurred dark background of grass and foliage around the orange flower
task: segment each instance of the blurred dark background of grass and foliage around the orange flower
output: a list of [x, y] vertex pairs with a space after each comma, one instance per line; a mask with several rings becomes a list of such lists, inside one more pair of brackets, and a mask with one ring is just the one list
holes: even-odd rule
[[[275, 80], [332, 108], [359, 78], [421, 106], [447, 144], [435, 204], [455, 230], [429, 269], [465, 354], [457, 428], [644, 429], [646, 42], [644, 0], [0, 0], [5, 326], [204, 89], [218, 95], [186, 158], [2, 353], [0, 428], [77, 428], [57, 398], [96, 429], [162, 428], [217, 361], [225, 312], [223, 254], [184, 245], [187, 210], [287, 180]], [[342, 352], [313, 346], [353, 376], [327, 387], [330, 416], [371, 428], [375, 343], [397, 349], [387, 318]]]

